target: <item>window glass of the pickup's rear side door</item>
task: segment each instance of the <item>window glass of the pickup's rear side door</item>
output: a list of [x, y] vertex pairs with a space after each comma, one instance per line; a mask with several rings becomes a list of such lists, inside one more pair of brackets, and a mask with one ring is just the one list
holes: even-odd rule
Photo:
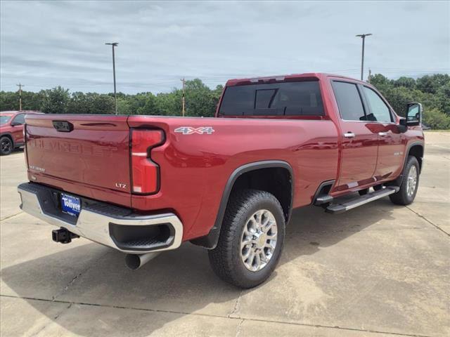
[[366, 121], [364, 106], [356, 84], [333, 81], [340, 117], [346, 121]]

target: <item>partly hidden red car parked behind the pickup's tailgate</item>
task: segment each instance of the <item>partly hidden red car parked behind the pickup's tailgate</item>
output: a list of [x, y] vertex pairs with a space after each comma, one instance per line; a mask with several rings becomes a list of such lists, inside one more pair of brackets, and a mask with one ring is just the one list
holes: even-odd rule
[[11, 154], [16, 147], [24, 145], [23, 124], [26, 114], [39, 114], [34, 110], [0, 112], [0, 154]]

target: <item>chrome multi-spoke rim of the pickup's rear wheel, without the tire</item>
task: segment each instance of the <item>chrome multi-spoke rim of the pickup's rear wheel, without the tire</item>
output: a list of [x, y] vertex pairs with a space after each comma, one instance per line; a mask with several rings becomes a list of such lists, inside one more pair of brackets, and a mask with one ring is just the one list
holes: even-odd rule
[[248, 270], [257, 272], [269, 263], [276, 248], [277, 229], [274, 214], [266, 209], [248, 218], [240, 239], [240, 258]]

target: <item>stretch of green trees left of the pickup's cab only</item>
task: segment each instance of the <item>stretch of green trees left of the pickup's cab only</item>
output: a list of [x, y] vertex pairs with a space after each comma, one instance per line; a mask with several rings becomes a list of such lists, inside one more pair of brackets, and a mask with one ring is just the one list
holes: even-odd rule
[[[186, 115], [213, 117], [223, 86], [210, 89], [200, 79], [186, 81]], [[119, 114], [179, 116], [183, 92], [174, 88], [169, 93], [150, 92], [128, 95], [117, 93]], [[18, 110], [19, 93], [0, 91], [0, 110]], [[114, 93], [82, 93], [61, 86], [37, 93], [22, 91], [22, 109], [47, 114], [114, 114]]]

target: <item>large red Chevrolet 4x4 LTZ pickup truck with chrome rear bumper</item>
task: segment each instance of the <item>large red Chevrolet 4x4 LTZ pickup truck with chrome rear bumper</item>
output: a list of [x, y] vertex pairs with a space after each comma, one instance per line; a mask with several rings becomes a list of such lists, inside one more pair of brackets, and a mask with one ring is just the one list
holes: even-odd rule
[[30, 115], [21, 208], [60, 227], [54, 241], [113, 247], [132, 269], [190, 241], [250, 288], [276, 267], [293, 209], [413, 201], [421, 114], [410, 103], [399, 117], [366, 82], [311, 73], [231, 79], [215, 118]]

